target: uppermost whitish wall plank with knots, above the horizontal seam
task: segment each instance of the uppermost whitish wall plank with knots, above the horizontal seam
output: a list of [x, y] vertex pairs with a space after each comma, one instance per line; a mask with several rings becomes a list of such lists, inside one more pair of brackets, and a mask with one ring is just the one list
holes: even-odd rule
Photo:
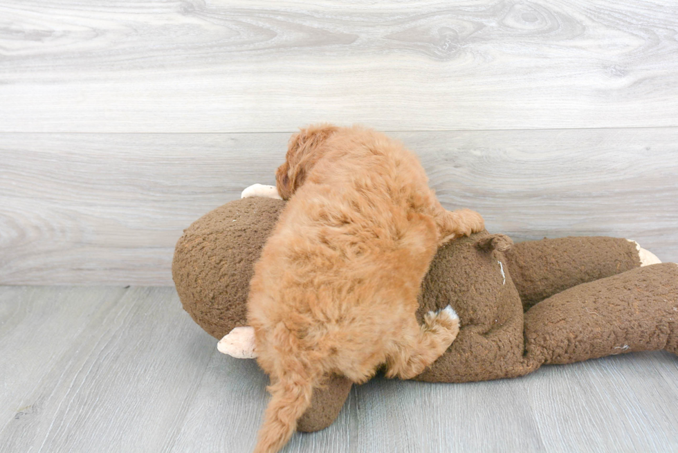
[[2, 0], [0, 17], [0, 131], [678, 126], [672, 0]]

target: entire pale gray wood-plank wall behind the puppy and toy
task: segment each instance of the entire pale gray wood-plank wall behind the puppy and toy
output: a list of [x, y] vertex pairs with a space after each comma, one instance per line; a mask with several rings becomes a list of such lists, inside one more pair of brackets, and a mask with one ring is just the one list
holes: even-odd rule
[[0, 0], [0, 284], [172, 284], [286, 139], [362, 122], [517, 240], [678, 261], [678, 3]]

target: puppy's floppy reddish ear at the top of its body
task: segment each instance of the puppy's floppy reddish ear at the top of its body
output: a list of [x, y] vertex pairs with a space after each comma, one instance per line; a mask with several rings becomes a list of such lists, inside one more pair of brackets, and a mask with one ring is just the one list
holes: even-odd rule
[[338, 130], [332, 124], [313, 124], [290, 138], [285, 163], [275, 172], [275, 185], [284, 200], [304, 183], [306, 174], [322, 155], [320, 145]]

